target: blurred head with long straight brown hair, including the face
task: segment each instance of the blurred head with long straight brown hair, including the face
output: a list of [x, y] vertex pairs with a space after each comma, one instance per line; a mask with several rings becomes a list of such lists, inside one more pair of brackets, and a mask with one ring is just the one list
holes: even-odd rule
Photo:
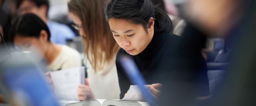
[[112, 60], [119, 49], [112, 37], [103, 7], [104, 0], [70, 0], [68, 2], [68, 10], [76, 24], [76, 29], [86, 43], [85, 53], [90, 54], [88, 59], [95, 70], [101, 67], [100, 64]]

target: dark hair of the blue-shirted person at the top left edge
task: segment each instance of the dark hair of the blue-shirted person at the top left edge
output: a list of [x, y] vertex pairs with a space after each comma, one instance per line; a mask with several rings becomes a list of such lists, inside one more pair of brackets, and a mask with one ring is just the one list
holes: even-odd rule
[[[19, 8], [20, 4], [22, 4], [22, 2], [24, 1], [25, 0], [17, 0], [17, 8]], [[46, 15], [48, 15], [48, 10], [49, 10], [48, 0], [28, 0], [28, 1], [35, 3], [38, 8], [42, 5], [46, 5], [47, 6]]]

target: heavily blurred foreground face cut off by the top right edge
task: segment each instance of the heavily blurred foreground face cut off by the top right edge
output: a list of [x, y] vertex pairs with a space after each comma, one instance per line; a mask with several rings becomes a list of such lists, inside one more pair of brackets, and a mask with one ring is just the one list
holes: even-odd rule
[[[218, 35], [222, 37], [226, 35], [238, 19], [241, 17], [243, 8], [237, 11], [237, 7], [243, 5], [241, 0], [222, 0], [220, 2], [210, 0], [165, 0], [166, 6], [176, 8], [183, 18], [196, 25], [209, 35]], [[217, 7], [216, 7], [217, 6]], [[172, 9], [166, 8], [169, 13]], [[179, 14], [180, 14], [179, 13]], [[239, 17], [234, 17], [239, 16]]]

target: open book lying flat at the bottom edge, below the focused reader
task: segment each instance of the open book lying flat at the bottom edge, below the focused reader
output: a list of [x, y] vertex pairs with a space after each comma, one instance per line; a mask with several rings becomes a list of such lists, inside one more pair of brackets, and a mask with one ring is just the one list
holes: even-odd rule
[[113, 100], [113, 99], [89, 99], [82, 102], [69, 103], [65, 106], [149, 106], [147, 102]]

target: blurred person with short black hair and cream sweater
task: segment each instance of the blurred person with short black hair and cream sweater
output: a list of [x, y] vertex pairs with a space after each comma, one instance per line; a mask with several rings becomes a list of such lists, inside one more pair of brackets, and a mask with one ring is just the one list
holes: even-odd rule
[[80, 54], [66, 45], [52, 43], [47, 25], [33, 13], [26, 13], [14, 20], [12, 32], [14, 44], [22, 51], [38, 53], [40, 58], [46, 60], [48, 70], [82, 66]]

